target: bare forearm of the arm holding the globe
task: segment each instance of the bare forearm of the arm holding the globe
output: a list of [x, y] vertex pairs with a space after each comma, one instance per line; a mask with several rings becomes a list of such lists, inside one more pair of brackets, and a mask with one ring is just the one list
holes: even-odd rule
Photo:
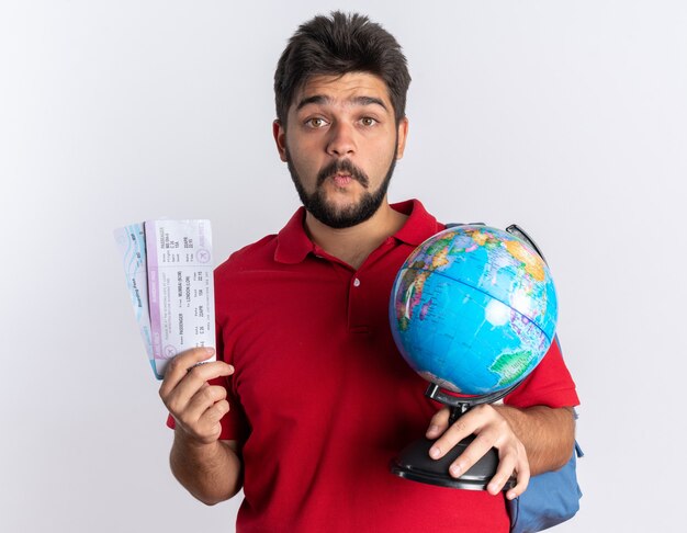
[[494, 407], [508, 421], [525, 445], [531, 475], [556, 470], [567, 463], [575, 442], [575, 418], [572, 408]]

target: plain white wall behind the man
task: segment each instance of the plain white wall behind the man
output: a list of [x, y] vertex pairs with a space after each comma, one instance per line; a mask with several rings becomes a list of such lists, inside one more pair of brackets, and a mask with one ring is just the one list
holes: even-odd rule
[[[233, 531], [238, 500], [205, 508], [168, 472], [112, 230], [207, 217], [221, 258], [279, 230], [299, 204], [273, 69], [337, 7], [0, 2], [1, 531]], [[684, 531], [687, 4], [345, 9], [410, 65], [391, 199], [517, 222], [550, 261], [587, 454], [556, 531]]]

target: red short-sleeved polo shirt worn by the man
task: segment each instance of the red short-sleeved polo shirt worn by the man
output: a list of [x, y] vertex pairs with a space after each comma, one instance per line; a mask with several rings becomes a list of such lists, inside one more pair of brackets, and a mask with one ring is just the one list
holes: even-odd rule
[[[239, 532], [508, 531], [503, 496], [388, 472], [438, 408], [394, 345], [392, 284], [443, 229], [417, 201], [393, 207], [408, 220], [358, 270], [308, 239], [301, 208], [215, 272], [217, 351], [236, 368], [222, 439], [243, 443]], [[577, 405], [556, 348], [509, 401]]]

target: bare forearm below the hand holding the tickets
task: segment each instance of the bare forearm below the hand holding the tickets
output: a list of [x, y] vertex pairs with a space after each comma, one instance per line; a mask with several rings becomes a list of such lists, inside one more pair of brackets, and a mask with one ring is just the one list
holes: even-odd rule
[[241, 488], [241, 462], [233, 442], [201, 444], [177, 429], [170, 466], [179, 483], [209, 506], [228, 500]]

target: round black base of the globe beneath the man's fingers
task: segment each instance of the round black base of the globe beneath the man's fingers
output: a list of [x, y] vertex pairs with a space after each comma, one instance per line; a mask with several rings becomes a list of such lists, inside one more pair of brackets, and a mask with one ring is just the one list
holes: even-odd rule
[[[420, 481], [428, 485], [437, 485], [439, 487], [450, 487], [468, 490], [486, 490], [486, 486], [496, 474], [498, 466], [498, 454], [492, 449], [480, 461], [468, 469], [461, 477], [452, 477], [449, 474], [449, 467], [460, 454], [462, 454], [468, 445], [474, 440], [474, 436], [468, 436], [459, 442], [443, 457], [432, 460], [429, 456], [429, 449], [435, 441], [429, 439], [420, 439], [408, 445], [397, 458], [392, 461], [391, 472], [396, 476], [413, 481]], [[516, 479], [510, 478], [504, 486], [504, 490], [508, 490], [516, 486]]]

